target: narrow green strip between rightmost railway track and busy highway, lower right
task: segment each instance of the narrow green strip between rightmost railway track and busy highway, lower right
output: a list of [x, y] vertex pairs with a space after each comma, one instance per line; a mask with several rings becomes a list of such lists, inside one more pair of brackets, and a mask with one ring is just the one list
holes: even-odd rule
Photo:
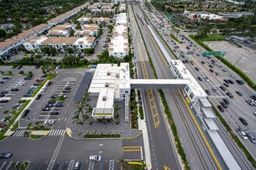
[[[213, 104], [212, 104], [213, 106]], [[246, 155], [247, 159], [251, 162], [251, 164], [256, 168], [256, 162], [254, 158], [251, 156], [249, 151], [244, 147], [242, 142], [237, 138], [237, 136], [232, 132], [230, 126], [227, 124], [227, 122], [223, 119], [221, 114], [216, 110], [216, 108], [213, 106], [213, 111], [215, 112], [216, 116], [220, 119], [221, 123], [224, 125], [224, 127], [227, 129], [227, 131], [230, 133], [231, 137], [234, 139], [235, 142], [237, 142], [237, 145], [244, 151], [244, 154]]]

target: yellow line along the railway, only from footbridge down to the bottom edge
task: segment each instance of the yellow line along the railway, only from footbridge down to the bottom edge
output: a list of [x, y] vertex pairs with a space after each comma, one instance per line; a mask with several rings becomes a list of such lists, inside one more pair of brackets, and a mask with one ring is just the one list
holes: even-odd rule
[[191, 115], [193, 121], [195, 122], [196, 128], [199, 130], [199, 132], [200, 132], [200, 134], [201, 134], [203, 140], [206, 142], [206, 146], [207, 146], [207, 148], [209, 148], [209, 152], [211, 153], [211, 155], [213, 155], [213, 158], [214, 158], [216, 164], [218, 165], [218, 167], [220, 168], [220, 170], [222, 170], [222, 168], [221, 168], [221, 166], [220, 166], [220, 163], [218, 162], [216, 156], [215, 156], [214, 153], [213, 153], [212, 148], [209, 146], [209, 143], [208, 143], [208, 141], [206, 140], [205, 135], [202, 133], [202, 130], [201, 130], [199, 124], [198, 124], [197, 121], [195, 120], [194, 114], [192, 114], [192, 111], [190, 110], [189, 105], [185, 102], [185, 98], [183, 97], [181, 90], [178, 90], [178, 93], [181, 95], [182, 100], [183, 100], [183, 102], [185, 103], [185, 106], [186, 106], [187, 109], [189, 110], [189, 114]]

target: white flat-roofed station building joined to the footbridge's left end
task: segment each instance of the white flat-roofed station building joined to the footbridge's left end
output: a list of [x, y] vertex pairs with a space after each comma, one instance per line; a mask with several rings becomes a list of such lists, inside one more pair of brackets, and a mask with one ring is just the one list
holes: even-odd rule
[[114, 101], [124, 100], [125, 94], [130, 94], [129, 63], [120, 63], [120, 66], [98, 64], [88, 92], [99, 96], [92, 117], [96, 120], [112, 119]]

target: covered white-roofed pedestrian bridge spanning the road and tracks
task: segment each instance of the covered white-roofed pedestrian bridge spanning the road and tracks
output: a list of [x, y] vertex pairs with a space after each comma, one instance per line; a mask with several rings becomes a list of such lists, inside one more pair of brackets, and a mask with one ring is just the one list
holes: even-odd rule
[[184, 89], [190, 80], [130, 79], [131, 89]]

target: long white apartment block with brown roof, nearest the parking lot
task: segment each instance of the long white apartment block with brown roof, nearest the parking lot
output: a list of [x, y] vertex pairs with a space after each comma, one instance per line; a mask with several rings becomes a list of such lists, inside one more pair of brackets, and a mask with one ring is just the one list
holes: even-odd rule
[[95, 37], [47, 37], [35, 36], [23, 43], [23, 46], [35, 53], [42, 53], [44, 47], [57, 49], [58, 53], [67, 53], [67, 48], [71, 48], [75, 53], [81, 53], [84, 49], [95, 48]]

